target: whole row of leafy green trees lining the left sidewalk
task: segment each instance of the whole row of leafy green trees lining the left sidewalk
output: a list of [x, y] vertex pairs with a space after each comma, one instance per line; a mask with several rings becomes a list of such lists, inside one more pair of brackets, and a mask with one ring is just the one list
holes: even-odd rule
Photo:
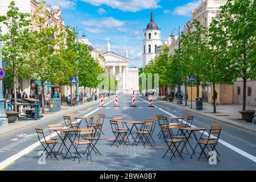
[[[90, 55], [85, 44], [76, 42], [75, 29], [59, 24], [47, 26], [48, 14], [44, 3], [30, 15], [21, 13], [10, 3], [6, 15], [0, 22], [8, 32], [3, 39], [3, 59], [6, 71], [13, 78], [14, 89], [18, 78], [40, 80], [42, 85], [53, 81], [61, 86], [69, 85], [70, 78], [79, 75], [81, 86], [96, 88], [97, 77], [104, 70]], [[16, 110], [16, 92], [14, 92]], [[44, 113], [44, 86], [42, 86], [42, 113]]]

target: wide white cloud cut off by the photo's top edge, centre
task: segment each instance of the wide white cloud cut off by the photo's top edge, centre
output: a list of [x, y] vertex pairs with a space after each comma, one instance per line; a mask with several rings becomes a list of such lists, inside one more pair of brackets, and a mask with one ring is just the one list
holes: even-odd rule
[[106, 5], [113, 9], [119, 9], [121, 11], [136, 12], [143, 9], [151, 9], [151, 7], [158, 8], [158, 2], [160, 0], [81, 0], [90, 3], [94, 6]]

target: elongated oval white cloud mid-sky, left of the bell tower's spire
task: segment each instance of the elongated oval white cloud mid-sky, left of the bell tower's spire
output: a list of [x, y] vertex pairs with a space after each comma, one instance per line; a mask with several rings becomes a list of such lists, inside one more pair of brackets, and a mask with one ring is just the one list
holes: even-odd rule
[[81, 24], [84, 24], [88, 27], [99, 27], [99, 28], [117, 28], [125, 25], [125, 21], [114, 19], [113, 17], [102, 18], [102, 19], [92, 19], [82, 21]]

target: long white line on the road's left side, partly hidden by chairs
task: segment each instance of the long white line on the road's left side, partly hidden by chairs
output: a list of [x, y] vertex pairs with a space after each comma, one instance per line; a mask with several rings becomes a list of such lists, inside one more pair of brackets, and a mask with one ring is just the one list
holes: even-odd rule
[[[121, 97], [121, 96], [119, 96], [119, 97]], [[113, 101], [114, 101], [114, 100], [109, 101], [109, 102], [106, 103], [105, 105], [108, 105], [108, 104], [110, 104], [110, 103], [113, 102]], [[92, 114], [92, 113], [95, 113], [96, 111], [98, 111], [98, 110], [100, 110], [100, 109], [101, 109], [101, 108], [97, 108], [97, 109], [91, 111], [90, 113], [84, 115], [84, 117], [86, 117], [86, 116], [88, 116], [88, 115], [90, 115], [90, 114]], [[52, 137], [56, 137], [56, 135], [57, 135], [57, 133], [53, 133], [53, 134], [52, 134]], [[46, 140], [49, 140], [49, 139], [51, 139], [51, 136], [50, 136], [50, 135], [48, 135], [48, 136], [46, 137]], [[22, 151], [18, 152], [17, 154], [15, 154], [15, 155], [13, 155], [13, 156], [10, 156], [10, 158], [7, 158], [6, 160], [3, 160], [3, 162], [0, 163], [0, 169], [5, 168], [5, 167], [8, 166], [9, 164], [15, 162], [15, 160], [19, 159], [19, 158], [22, 157], [23, 155], [26, 155], [29, 151], [33, 150], [33, 148], [36, 148], [36, 147], [38, 147], [38, 146], [40, 146], [40, 142], [39, 142], [39, 141], [36, 142], [36, 143], [34, 143], [34, 144], [31, 144], [31, 146], [28, 146], [27, 148], [23, 149]]]

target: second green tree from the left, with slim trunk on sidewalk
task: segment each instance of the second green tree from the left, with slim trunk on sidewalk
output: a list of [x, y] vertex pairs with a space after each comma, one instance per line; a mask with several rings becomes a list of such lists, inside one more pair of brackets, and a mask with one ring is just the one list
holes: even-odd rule
[[32, 13], [33, 24], [36, 27], [31, 32], [34, 44], [30, 54], [30, 66], [34, 71], [33, 78], [40, 80], [42, 84], [42, 113], [44, 113], [44, 83], [51, 81], [54, 75], [53, 63], [56, 61], [55, 46], [57, 26], [47, 27], [48, 13], [44, 10], [44, 3]]

